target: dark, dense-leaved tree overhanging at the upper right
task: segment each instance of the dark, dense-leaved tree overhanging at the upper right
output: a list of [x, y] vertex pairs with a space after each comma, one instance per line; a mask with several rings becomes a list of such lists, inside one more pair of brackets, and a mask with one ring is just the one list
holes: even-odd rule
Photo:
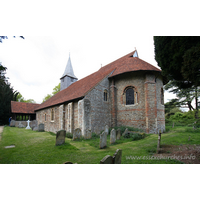
[[155, 36], [155, 59], [162, 74], [176, 83], [179, 90], [195, 93], [196, 119], [198, 119], [198, 86], [200, 86], [200, 37]]

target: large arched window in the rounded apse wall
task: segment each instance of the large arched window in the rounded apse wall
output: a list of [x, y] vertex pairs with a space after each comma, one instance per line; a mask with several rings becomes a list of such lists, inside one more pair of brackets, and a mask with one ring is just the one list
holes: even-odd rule
[[134, 105], [137, 103], [137, 91], [133, 86], [125, 88], [123, 93], [123, 103], [125, 105]]

